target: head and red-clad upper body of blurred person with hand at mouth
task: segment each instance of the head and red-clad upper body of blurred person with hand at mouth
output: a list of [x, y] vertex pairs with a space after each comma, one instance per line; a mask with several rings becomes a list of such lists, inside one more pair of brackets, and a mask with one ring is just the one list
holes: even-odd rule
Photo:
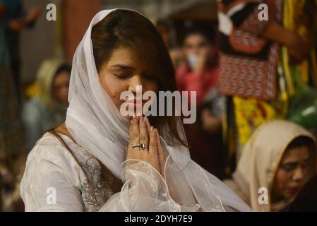
[[179, 90], [196, 91], [197, 106], [217, 83], [217, 50], [212, 29], [210, 25], [210, 30], [201, 27], [188, 30], [183, 44], [187, 60], [177, 68]]

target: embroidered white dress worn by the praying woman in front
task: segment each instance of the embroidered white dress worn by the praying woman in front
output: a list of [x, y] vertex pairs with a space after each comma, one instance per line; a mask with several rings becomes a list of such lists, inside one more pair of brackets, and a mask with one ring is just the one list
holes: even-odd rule
[[[167, 195], [160, 175], [147, 162], [130, 160], [124, 167], [125, 185], [102, 162], [59, 134], [71, 152], [52, 133], [45, 133], [28, 155], [27, 165], [20, 183], [25, 211], [123, 211], [128, 203], [143, 196], [144, 210], [161, 197], [157, 210], [199, 210], [179, 206]], [[162, 181], [163, 182], [163, 181]], [[164, 182], [163, 182], [164, 183]], [[148, 189], [147, 189], [148, 187]], [[123, 200], [120, 191], [126, 195]], [[195, 199], [192, 197], [193, 203]], [[141, 208], [139, 204], [138, 208]], [[134, 208], [137, 208], [134, 206]]]

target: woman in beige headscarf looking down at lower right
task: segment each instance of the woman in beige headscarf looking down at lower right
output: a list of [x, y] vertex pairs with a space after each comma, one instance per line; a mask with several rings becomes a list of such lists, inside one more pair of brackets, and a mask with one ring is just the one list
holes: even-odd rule
[[[244, 147], [233, 179], [225, 184], [253, 210], [276, 211], [293, 201], [313, 175], [315, 138], [301, 126], [276, 120], [256, 129]], [[265, 199], [268, 203], [261, 204]]]

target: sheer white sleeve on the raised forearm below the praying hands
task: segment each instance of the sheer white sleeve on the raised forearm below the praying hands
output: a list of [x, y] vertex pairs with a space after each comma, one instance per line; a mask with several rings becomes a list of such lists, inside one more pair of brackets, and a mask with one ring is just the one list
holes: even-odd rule
[[127, 160], [124, 163], [124, 186], [100, 211], [178, 212], [199, 209], [199, 205], [189, 208], [176, 203], [169, 195], [165, 179], [148, 162]]

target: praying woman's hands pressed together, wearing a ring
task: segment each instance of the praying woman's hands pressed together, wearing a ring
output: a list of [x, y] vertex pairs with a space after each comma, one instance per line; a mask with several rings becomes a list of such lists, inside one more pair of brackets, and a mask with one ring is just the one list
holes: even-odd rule
[[[162, 174], [162, 170], [164, 170], [165, 166], [165, 155], [162, 150], [157, 129], [150, 126], [148, 118], [133, 117], [129, 131], [130, 141], [126, 150], [126, 160], [143, 160]], [[145, 143], [147, 147], [144, 150], [132, 148], [133, 143]]]

